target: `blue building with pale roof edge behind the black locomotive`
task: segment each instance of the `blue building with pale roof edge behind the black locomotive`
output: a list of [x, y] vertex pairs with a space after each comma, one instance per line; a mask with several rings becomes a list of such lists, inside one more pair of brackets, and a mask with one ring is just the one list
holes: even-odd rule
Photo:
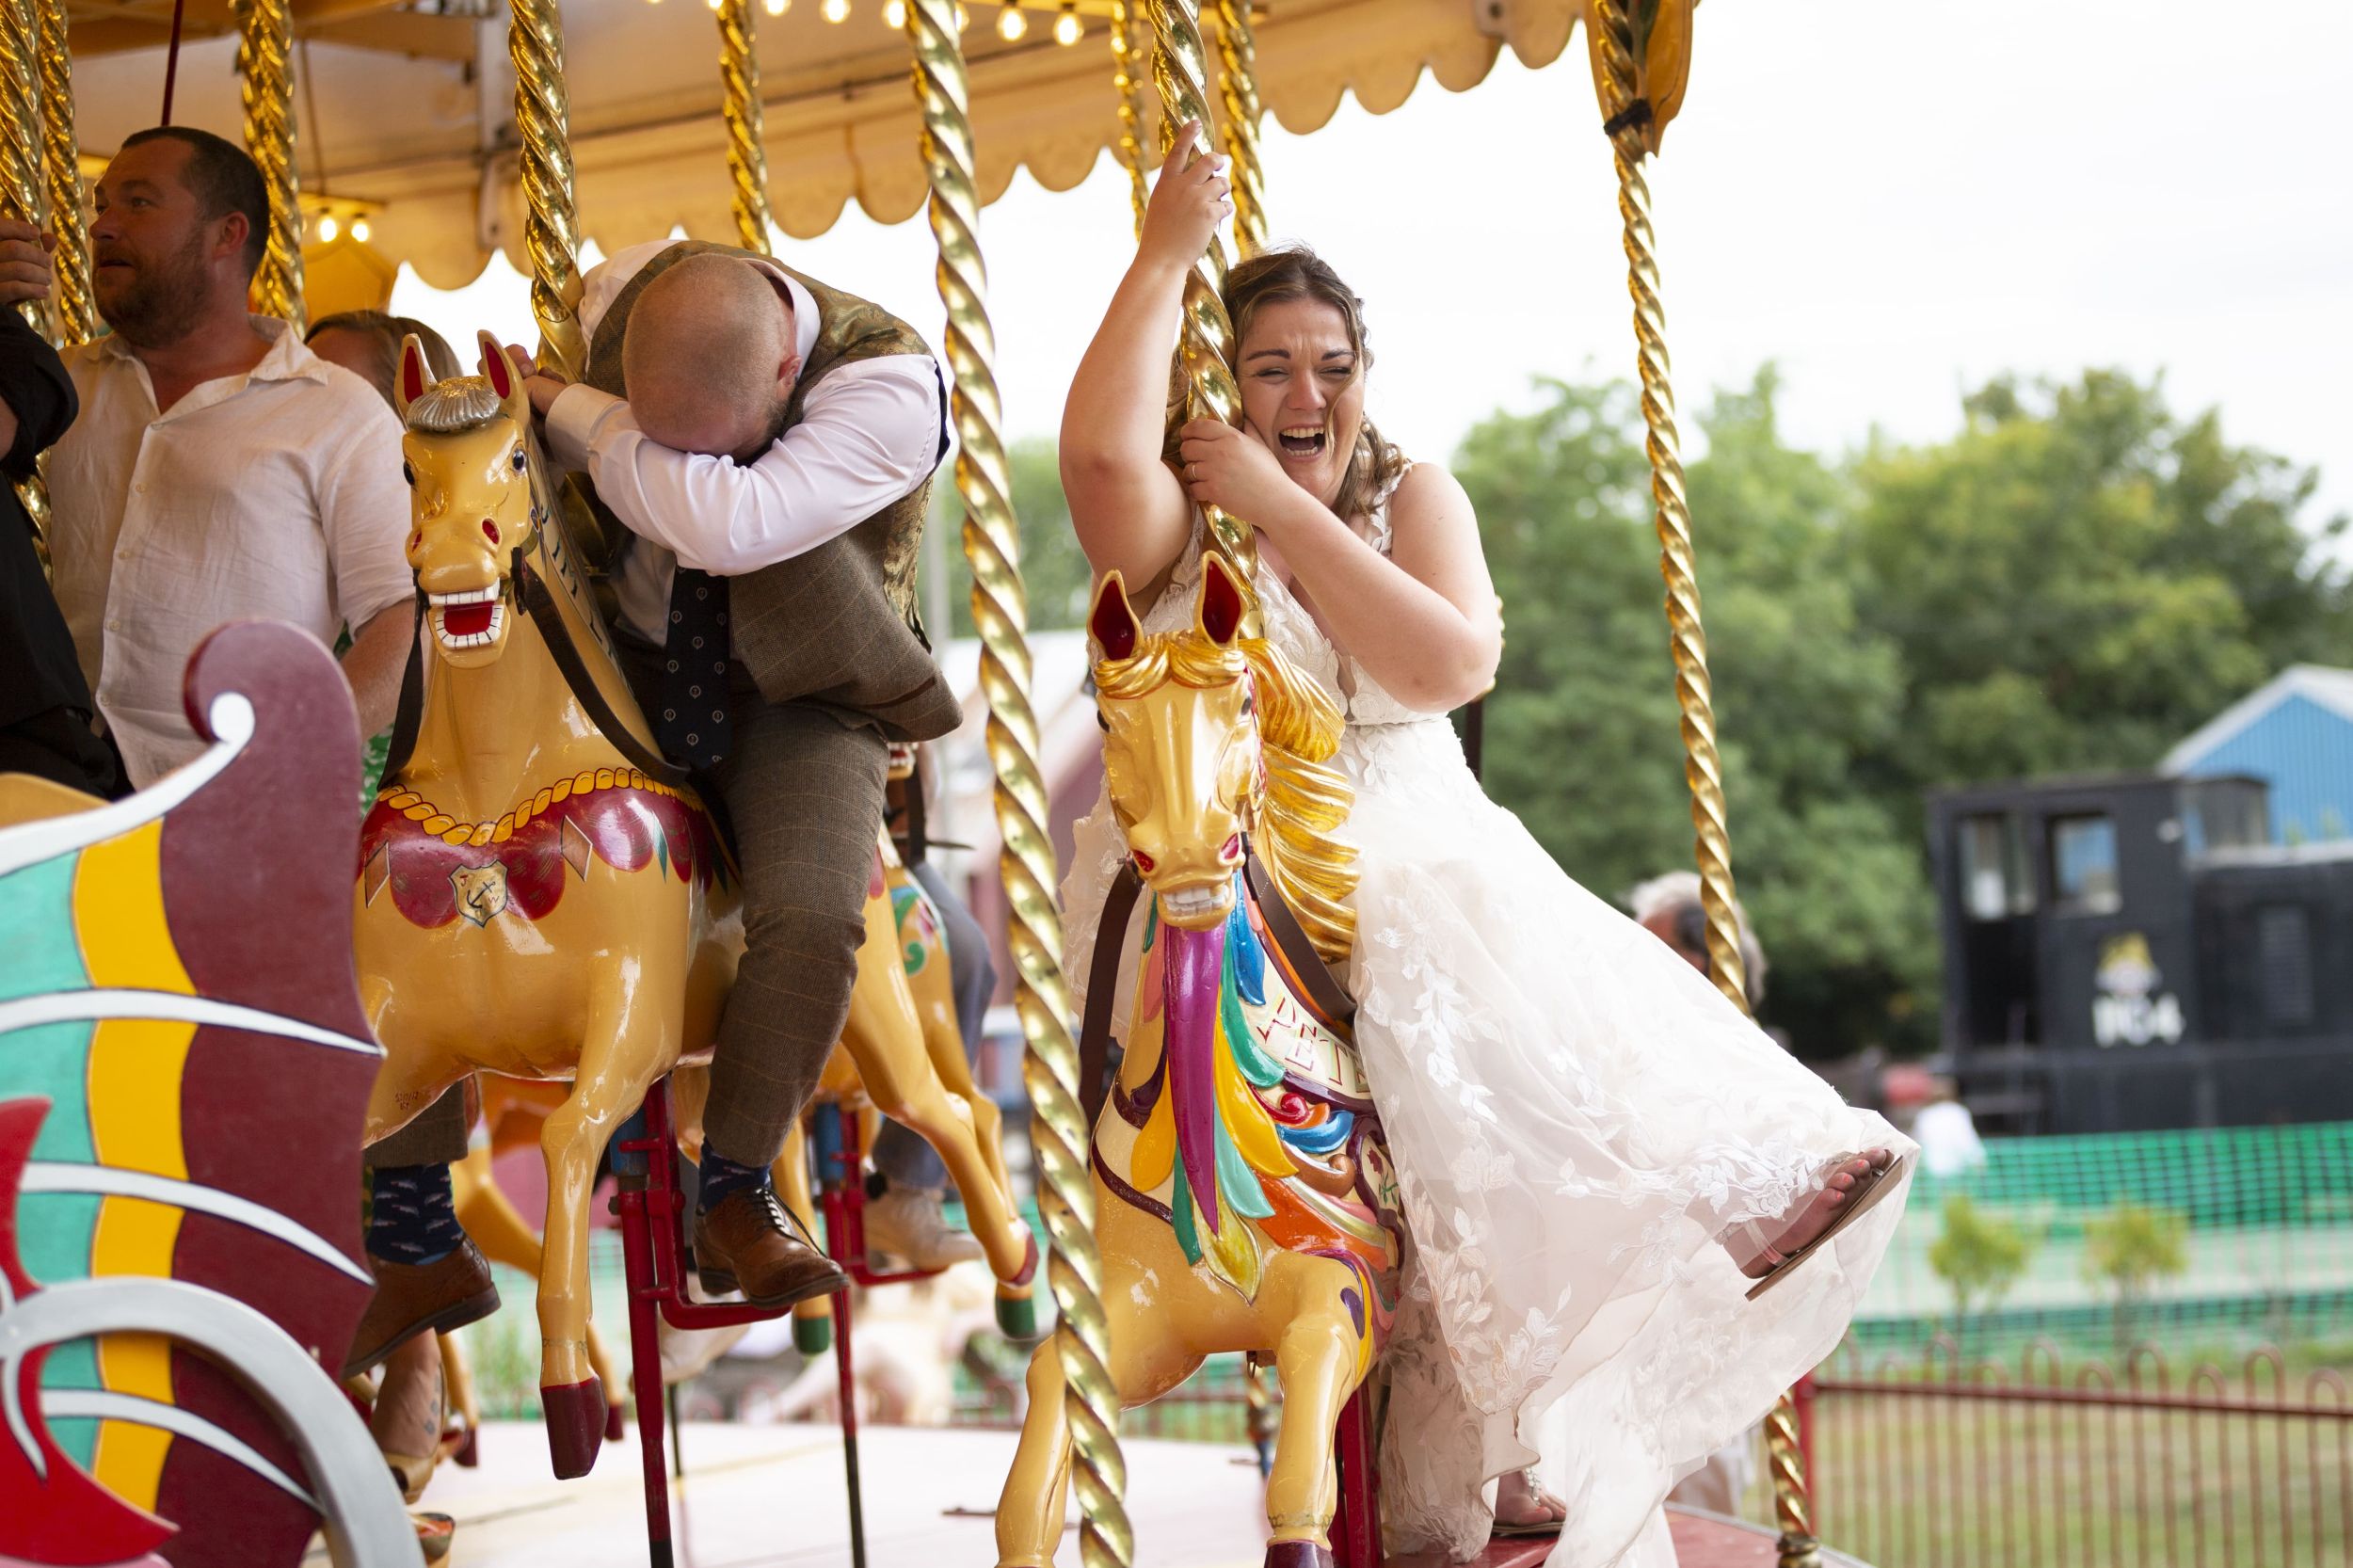
[[2353, 669], [2289, 664], [2167, 751], [2158, 772], [2264, 779], [2273, 843], [2353, 838]]

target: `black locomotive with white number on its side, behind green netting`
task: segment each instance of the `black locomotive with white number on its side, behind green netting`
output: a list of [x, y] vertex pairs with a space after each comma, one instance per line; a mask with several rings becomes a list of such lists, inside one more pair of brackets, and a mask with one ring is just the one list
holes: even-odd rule
[[1988, 1128], [2353, 1118], [2353, 841], [2254, 777], [1932, 793], [1944, 1050]]

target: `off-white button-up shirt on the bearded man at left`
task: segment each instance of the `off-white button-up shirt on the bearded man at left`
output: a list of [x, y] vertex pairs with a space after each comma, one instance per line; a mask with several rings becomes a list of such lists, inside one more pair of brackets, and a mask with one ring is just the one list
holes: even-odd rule
[[273, 339], [259, 365], [160, 414], [127, 344], [66, 351], [82, 414], [49, 450], [56, 603], [141, 789], [202, 751], [181, 678], [214, 626], [332, 645], [416, 591], [393, 410], [282, 320], [254, 330]]

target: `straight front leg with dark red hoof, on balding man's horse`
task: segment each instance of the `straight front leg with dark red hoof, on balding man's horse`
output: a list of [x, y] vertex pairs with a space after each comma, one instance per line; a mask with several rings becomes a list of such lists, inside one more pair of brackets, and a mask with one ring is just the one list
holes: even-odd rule
[[[685, 946], [685, 930], [678, 932]], [[661, 961], [668, 963], [661, 963]], [[664, 975], [664, 970], [668, 972]], [[678, 1062], [680, 1019], [647, 1003], [685, 975], [685, 954], [647, 954], [642, 965], [598, 975], [581, 1031], [572, 1097], [548, 1116], [548, 1238], [539, 1274], [539, 1403], [558, 1479], [586, 1476], [605, 1439], [605, 1401], [588, 1361], [588, 1184], [621, 1121]]]

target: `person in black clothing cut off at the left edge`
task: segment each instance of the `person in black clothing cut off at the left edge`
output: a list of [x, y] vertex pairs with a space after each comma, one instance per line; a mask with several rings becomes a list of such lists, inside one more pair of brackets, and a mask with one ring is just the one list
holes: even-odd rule
[[[21, 242], [9, 233], [9, 240]], [[122, 793], [113, 749], [92, 727], [89, 683], [33, 549], [14, 485], [78, 412], [64, 363], [14, 308], [0, 308], [0, 772], [31, 772], [92, 796]]]

